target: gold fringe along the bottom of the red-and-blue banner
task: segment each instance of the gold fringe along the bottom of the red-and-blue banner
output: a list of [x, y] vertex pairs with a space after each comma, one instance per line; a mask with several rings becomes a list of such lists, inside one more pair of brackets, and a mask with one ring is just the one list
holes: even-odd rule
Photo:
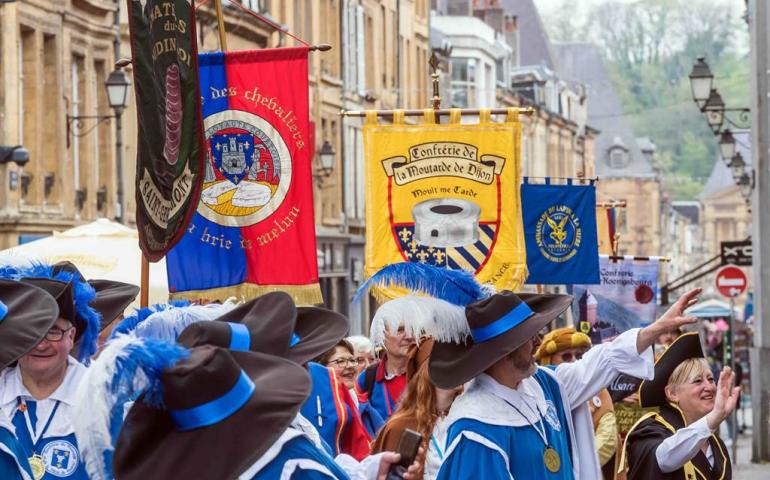
[[286, 292], [297, 305], [323, 304], [323, 295], [318, 283], [308, 285], [255, 285], [242, 283], [229, 287], [209, 288], [206, 290], [187, 290], [170, 294], [171, 300], [189, 300], [191, 302], [207, 301], [224, 302], [235, 297], [238, 301], [247, 301], [270, 292]]

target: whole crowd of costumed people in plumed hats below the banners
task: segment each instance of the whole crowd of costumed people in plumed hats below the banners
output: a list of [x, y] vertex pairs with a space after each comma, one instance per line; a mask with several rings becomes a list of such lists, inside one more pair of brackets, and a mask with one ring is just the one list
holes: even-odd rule
[[[699, 290], [592, 346], [550, 330], [570, 296], [446, 284], [382, 303], [367, 338], [282, 292], [123, 317], [135, 286], [0, 266], [0, 478], [731, 478], [739, 389], [682, 333]], [[621, 375], [648, 409], [625, 438]]]

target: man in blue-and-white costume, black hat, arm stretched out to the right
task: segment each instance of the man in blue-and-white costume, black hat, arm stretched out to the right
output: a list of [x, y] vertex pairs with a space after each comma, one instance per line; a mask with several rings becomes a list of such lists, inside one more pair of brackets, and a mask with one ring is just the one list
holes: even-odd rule
[[620, 373], [652, 378], [655, 339], [696, 321], [684, 310], [699, 293], [686, 293], [651, 325], [555, 371], [535, 363], [538, 332], [570, 306], [571, 296], [502, 291], [468, 305], [467, 322], [447, 334], [465, 342], [437, 342], [429, 360], [436, 386], [470, 382], [449, 411], [437, 478], [601, 478], [587, 401]]

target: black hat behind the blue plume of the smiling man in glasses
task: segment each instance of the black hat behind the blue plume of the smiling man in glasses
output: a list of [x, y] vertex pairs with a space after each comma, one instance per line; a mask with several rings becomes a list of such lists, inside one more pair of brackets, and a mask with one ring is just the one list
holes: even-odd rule
[[139, 287], [130, 283], [101, 279], [87, 280], [72, 262], [61, 261], [53, 265], [54, 275], [62, 271], [72, 273], [77, 280], [87, 282], [96, 290], [96, 297], [88, 304], [101, 315], [99, 330], [104, 330], [113, 320], [123, 315], [126, 308], [139, 295]]

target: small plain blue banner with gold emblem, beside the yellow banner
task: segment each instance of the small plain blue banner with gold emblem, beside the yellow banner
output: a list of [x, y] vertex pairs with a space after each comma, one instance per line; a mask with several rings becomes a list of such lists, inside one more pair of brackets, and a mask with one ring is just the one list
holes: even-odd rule
[[545, 181], [521, 186], [527, 283], [598, 284], [596, 187]]

